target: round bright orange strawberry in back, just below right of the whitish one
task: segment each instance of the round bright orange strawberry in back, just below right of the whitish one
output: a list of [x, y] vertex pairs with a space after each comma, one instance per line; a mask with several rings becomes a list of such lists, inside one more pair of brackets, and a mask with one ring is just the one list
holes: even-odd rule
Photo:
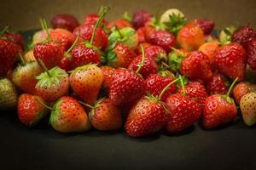
[[184, 26], [177, 33], [178, 45], [188, 51], [198, 49], [204, 42], [204, 32], [200, 27], [195, 26], [194, 24]]

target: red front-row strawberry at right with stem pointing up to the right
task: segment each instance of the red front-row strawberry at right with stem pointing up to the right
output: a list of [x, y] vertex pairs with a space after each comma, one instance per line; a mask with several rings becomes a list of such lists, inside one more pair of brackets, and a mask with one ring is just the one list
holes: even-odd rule
[[237, 115], [236, 105], [229, 103], [220, 94], [213, 94], [206, 99], [202, 116], [203, 126], [215, 128], [234, 121]]

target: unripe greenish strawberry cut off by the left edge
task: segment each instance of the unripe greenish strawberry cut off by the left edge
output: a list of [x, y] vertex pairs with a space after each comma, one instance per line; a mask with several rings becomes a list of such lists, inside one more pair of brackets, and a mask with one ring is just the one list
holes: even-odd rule
[[17, 100], [15, 85], [7, 78], [0, 79], [0, 111], [15, 109]]

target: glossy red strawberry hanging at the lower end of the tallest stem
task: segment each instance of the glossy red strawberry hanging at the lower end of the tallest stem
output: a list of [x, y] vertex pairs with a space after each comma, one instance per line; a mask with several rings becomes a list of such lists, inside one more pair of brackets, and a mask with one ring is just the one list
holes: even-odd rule
[[87, 48], [83, 43], [75, 46], [72, 50], [71, 67], [75, 69], [81, 65], [87, 65], [89, 63], [100, 63], [101, 54], [94, 48]]

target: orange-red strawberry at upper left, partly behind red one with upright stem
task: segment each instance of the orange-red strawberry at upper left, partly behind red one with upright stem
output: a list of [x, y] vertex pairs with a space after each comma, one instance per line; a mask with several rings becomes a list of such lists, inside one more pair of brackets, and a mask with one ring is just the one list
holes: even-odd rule
[[63, 28], [56, 28], [55, 30], [50, 31], [49, 36], [54, 42], [61, 42], [65, 51], [70, 48], [75, 41], [73, 33]]

